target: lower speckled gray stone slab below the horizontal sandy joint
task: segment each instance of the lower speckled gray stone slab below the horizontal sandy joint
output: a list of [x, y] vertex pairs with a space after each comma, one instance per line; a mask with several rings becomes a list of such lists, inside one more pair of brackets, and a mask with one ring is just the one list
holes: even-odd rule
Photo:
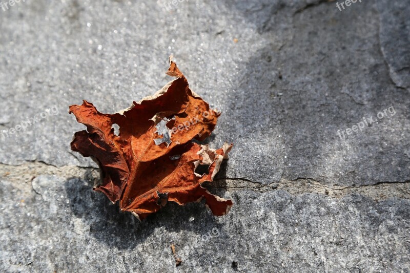
[[234, 190], [225, 194], [235, 202], [227, 216], [212, 216], [203, 202], [168, 204], [140, 223], [81, 178], [38, 176], [32, 188], [0, 183], [2, 271], [410, 268], [409, 200]]

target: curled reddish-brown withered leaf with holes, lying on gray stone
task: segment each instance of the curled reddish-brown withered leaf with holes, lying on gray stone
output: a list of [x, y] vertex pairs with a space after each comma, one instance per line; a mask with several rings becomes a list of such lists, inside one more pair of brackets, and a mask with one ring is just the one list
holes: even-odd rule
[[[167, 74], [176, 79], [118, 113], [102, 114], [87, 101], [71, 106], [70, 114], [87, 127], [75, 133], [71, 149], [98, 163], [101, 181], [93, 190], [140, 220], [168, 201], [183, 205], [201, 198], [214, 215], [225, 215], [232, 201], [212, 195], [201, 183], [212, 182], [232, 144], [213, 150], [192, 141], [208, 137], [220, 113], [191, 91], [171, 58]], [[195, 173], [199, 165], [209, 165], [208, 174]]]

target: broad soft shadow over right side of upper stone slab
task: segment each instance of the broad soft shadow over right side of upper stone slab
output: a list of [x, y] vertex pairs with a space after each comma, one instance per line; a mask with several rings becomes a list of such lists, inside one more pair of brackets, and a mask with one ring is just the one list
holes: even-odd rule
[[[312, 178], [332, 186], [408, 179], [408, 91], [389, 76], [372, 3], [344, 12], [323, 1], [224, 5], [264, 38], [272, 34], [271, 44], [238, 65], [241, 80], [219, 120], [235, 143], [235, 166], [243, 166], [230, 176], [267, 183]], [[376, 119], [391, 106], [398, 114], [347, 135], [363, 117]], [[259, 156], [250, 160], [253, 154]], [[385, 167], [387, 159], [393, 168]]]

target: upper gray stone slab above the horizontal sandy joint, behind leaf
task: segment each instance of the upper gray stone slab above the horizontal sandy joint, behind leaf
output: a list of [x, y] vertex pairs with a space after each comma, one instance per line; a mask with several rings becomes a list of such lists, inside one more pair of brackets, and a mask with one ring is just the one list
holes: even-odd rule
[[[395, 16], [404, 1], [378, 2], [380, 24], [371, 2], [342, 12], [317, 1], [181, 2], [170, 11], [162, 2], [40, 3], [0, 18], [0, 129], [39, 120], [0, 137], [0, 162], [95, 166], [70, 151], [84, 127], [68, 106], [86, 99], [101, 112], [124, 109], [170, 80], [163, 71], [174, 53], [192, 89], [224, 112], [210, 140], [235, 143], [228, 177], [329, 185], [409, 177], [408, 20]], [[339, 137], [388, 107], [394, 116]]]

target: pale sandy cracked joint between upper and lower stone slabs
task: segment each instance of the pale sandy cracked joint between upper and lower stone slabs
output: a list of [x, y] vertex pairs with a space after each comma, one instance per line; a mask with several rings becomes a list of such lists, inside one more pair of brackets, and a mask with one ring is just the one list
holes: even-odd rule
[[[62, 166], [57, 167], [42, 161], [26, 161], [22, 165], [7, 165], [0, 163], [0, 177], [16, 183], [27, 182], [33, 191], [41, 195], [33, 187], [32, 181], [40, 175], [56, 175], [66, 179], [78, 177], [83, 180], [99, 179], [99, 169], [95, 167]], [[246, 177], [222, 177], [213, 182], [203, 183], [205, 187], [227, 191], [249, 190], [258, 193], [267, 193], [274, 190], [283, 190], [293, 196], [303, 194], [320, 194], [332, 198], [341, 198], [350, 194], [360, 194], [374, 200], [388, 198], [410, 199], [410, 180], [405, 181], [378, 181], [370, 185], [330, 186], [313, 178], [298, 177], [293, 180], [281, 178], [264, 184]]]

